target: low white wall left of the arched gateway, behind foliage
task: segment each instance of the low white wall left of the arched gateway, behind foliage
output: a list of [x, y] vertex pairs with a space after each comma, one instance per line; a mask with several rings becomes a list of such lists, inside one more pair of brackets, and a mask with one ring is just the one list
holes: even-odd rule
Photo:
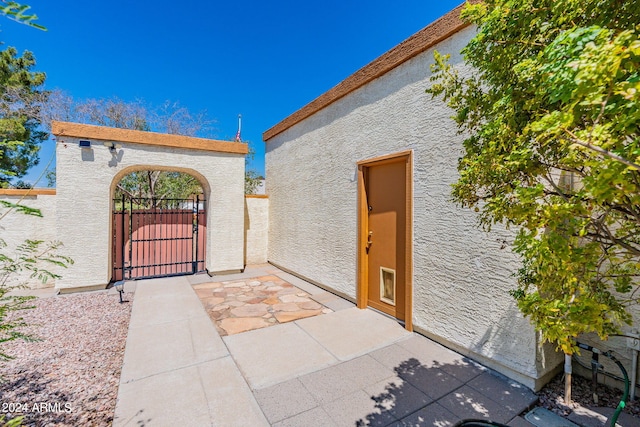
[[[0, 200], [10, 203], [28, 206], [40, 210], [42, 217], [25, 215], [13, 210], [0, 221], [0, 239], [7, 245], [0, 249], [11, 258], [17, 255], [15, 249], [25, 240], [43, 240], [41, 248], [56, 240], [56, 196], [55, 195], [29, 195], [23, 198], [22, 195], [0, 195]], [[0, 208], [0, 214], [7, 211]], [[60, 248], [60, 254], [65, 254], [65, 248]], [[40, 267], [56, 274], [64, 274], [64, 269], [58, 269], [51, 264], [43, 263]], [[30, 288], [51, 287], [54, 281], [50, 280], [42, 283], [37, 278], [30, 278], [30, 272], [12, 274], [9, 285], [25, 285]]]

